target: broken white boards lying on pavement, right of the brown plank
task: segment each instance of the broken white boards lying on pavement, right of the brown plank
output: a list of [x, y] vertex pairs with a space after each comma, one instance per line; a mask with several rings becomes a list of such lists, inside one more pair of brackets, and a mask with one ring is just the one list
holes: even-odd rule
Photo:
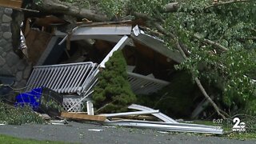
[[[128, 112], [121, 114], [105, 114], [106, 117], [117, 117], [125, 114], [150, 114], [148, 113], [150, 109], [146, 106], [131, 105], [129, 106], [132, 109], [138, 109], [142, 111], [138, 112]], [[154, 110], [153, 110], [154, 111]], [[158, 110], [157, 110], [158, 111]], [[143, 113], [144, 112], [144, 113]], [[159, 112], [158, 112], [159, 113]], [[142, 121], [142, 120], [130, 120], [130, 119], [121, 119], [113, 121], [105, 121], [106, 126], [129, 126], [136, 128], [145, 128], [145, 129], [154, 129], [160, 131], [178, 131], [178, 132], [195, 132], [195, 133], [206, 133], [206, 134], [223, 134], [223, 130], [218, 126], [206, 126], [198, 124], [189, 124], [189, 123], [179, 123], [174, 119], [166, 116], [165, 114], [154, 115], [161, 119], [163, 122], [152, 122], [152, 121]], [[154, 114], [154, 113], [151, 113]], [[165, 122], [167, 121], [167, 122]], [[170, 121], [170, 122], [169, 122]]]

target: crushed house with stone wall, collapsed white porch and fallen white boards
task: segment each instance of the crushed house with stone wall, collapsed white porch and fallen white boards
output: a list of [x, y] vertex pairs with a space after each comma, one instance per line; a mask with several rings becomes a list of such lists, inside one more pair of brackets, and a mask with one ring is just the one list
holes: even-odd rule
[[[23, 9], [22, 1], [0, 2], [0, 6], [14, 9], [1, 9], [3, 33], [0, 45], [3, 52], [0, 65], [1, 72], [8, 73], [1, 74], [1, 80], [7, 82], [8, 79], [6, 84], [12, 86], [24, 86], [24, 91], [46, 87], [62, 94], [63, 108], [68, 112], [81, 112], [84, 102], [88, 101], [87, 112], [94, 114], [90, 96], [98, 82], [98, 74], [116, 50], [122, 50], [128, 82], [134, 94], [150, 95], [170, 85], [173, 75], [178, 73], [174, 66], [183, 61], [178, 50], [170, 50], [162, 39], [155, 36], [158, 34], [147, 34], [143, 22], [90, 22], [85, 18], [74, 25], [66, 18]], [[24, 15], [16, 10], [23, 10]], [[8, 30], [3, 26], [9, 26]], [[202, 111], [201, 107], [196, 108], [196, 115]], [[142, 110], [142, 114], [159, 112], [138, 105], [131, 105], [130, 108]], [[146, 113], [146, 110], [151, 111]], [[108, 118], [115, 115], [102, 116]], [[167, 123], [135, 122], [133, 125], [141, 123], [146, 128], [157, 126], [159, 130], [165, 127], [167, 131], [222, 134], [222, 130], [210, 126], [190, 125], [186, 128], [189, 125], [180, 124], [161, 113], [156, 117]], [[173, 124], [174, 127], [170, 126]], [[126, 121], [109, 122], [109, 125], [130, 126]]]

